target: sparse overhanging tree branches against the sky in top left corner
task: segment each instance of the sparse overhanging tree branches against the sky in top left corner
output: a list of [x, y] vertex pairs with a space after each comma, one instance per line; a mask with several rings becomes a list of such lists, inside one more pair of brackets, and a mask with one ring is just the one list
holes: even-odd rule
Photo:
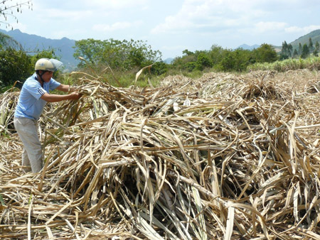
[[[11, 18], [14, 19], [18, 23], [18, 18], [16, 17], [16, 12], [17, 13], [22, 13], [22, 8], [23, 6], [28, 6], [28, 9], [32, 10], [32, 1], [12, 1], [12, 0], [1, 0], [0, 2], [0, 26], [1, 23], [6, 26], [6, 28], [9, 28], [11, 24], [9, 23], [9, 20]], [[3, 19], [3, 20], [1, 20]], [[11, 29], [13, 27], [11, 26]]]

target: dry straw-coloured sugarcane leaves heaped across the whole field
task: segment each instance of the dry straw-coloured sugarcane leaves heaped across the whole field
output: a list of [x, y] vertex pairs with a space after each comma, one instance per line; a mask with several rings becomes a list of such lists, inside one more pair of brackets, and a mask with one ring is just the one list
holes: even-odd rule
[[0, 239], [320, 239], [319, 71], [76, 85], [41, 116], [38, 174], [0, 95]]

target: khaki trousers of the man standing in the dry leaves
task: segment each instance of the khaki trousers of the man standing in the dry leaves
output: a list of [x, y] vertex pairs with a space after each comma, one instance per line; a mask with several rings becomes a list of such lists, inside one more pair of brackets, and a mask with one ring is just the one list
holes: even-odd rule
[[23, 143], [22, 165], [24, 172], [38, 173], [43, 168], [41, 143], [38, 137], [37, 121], [15, 118], [14, 127]]

